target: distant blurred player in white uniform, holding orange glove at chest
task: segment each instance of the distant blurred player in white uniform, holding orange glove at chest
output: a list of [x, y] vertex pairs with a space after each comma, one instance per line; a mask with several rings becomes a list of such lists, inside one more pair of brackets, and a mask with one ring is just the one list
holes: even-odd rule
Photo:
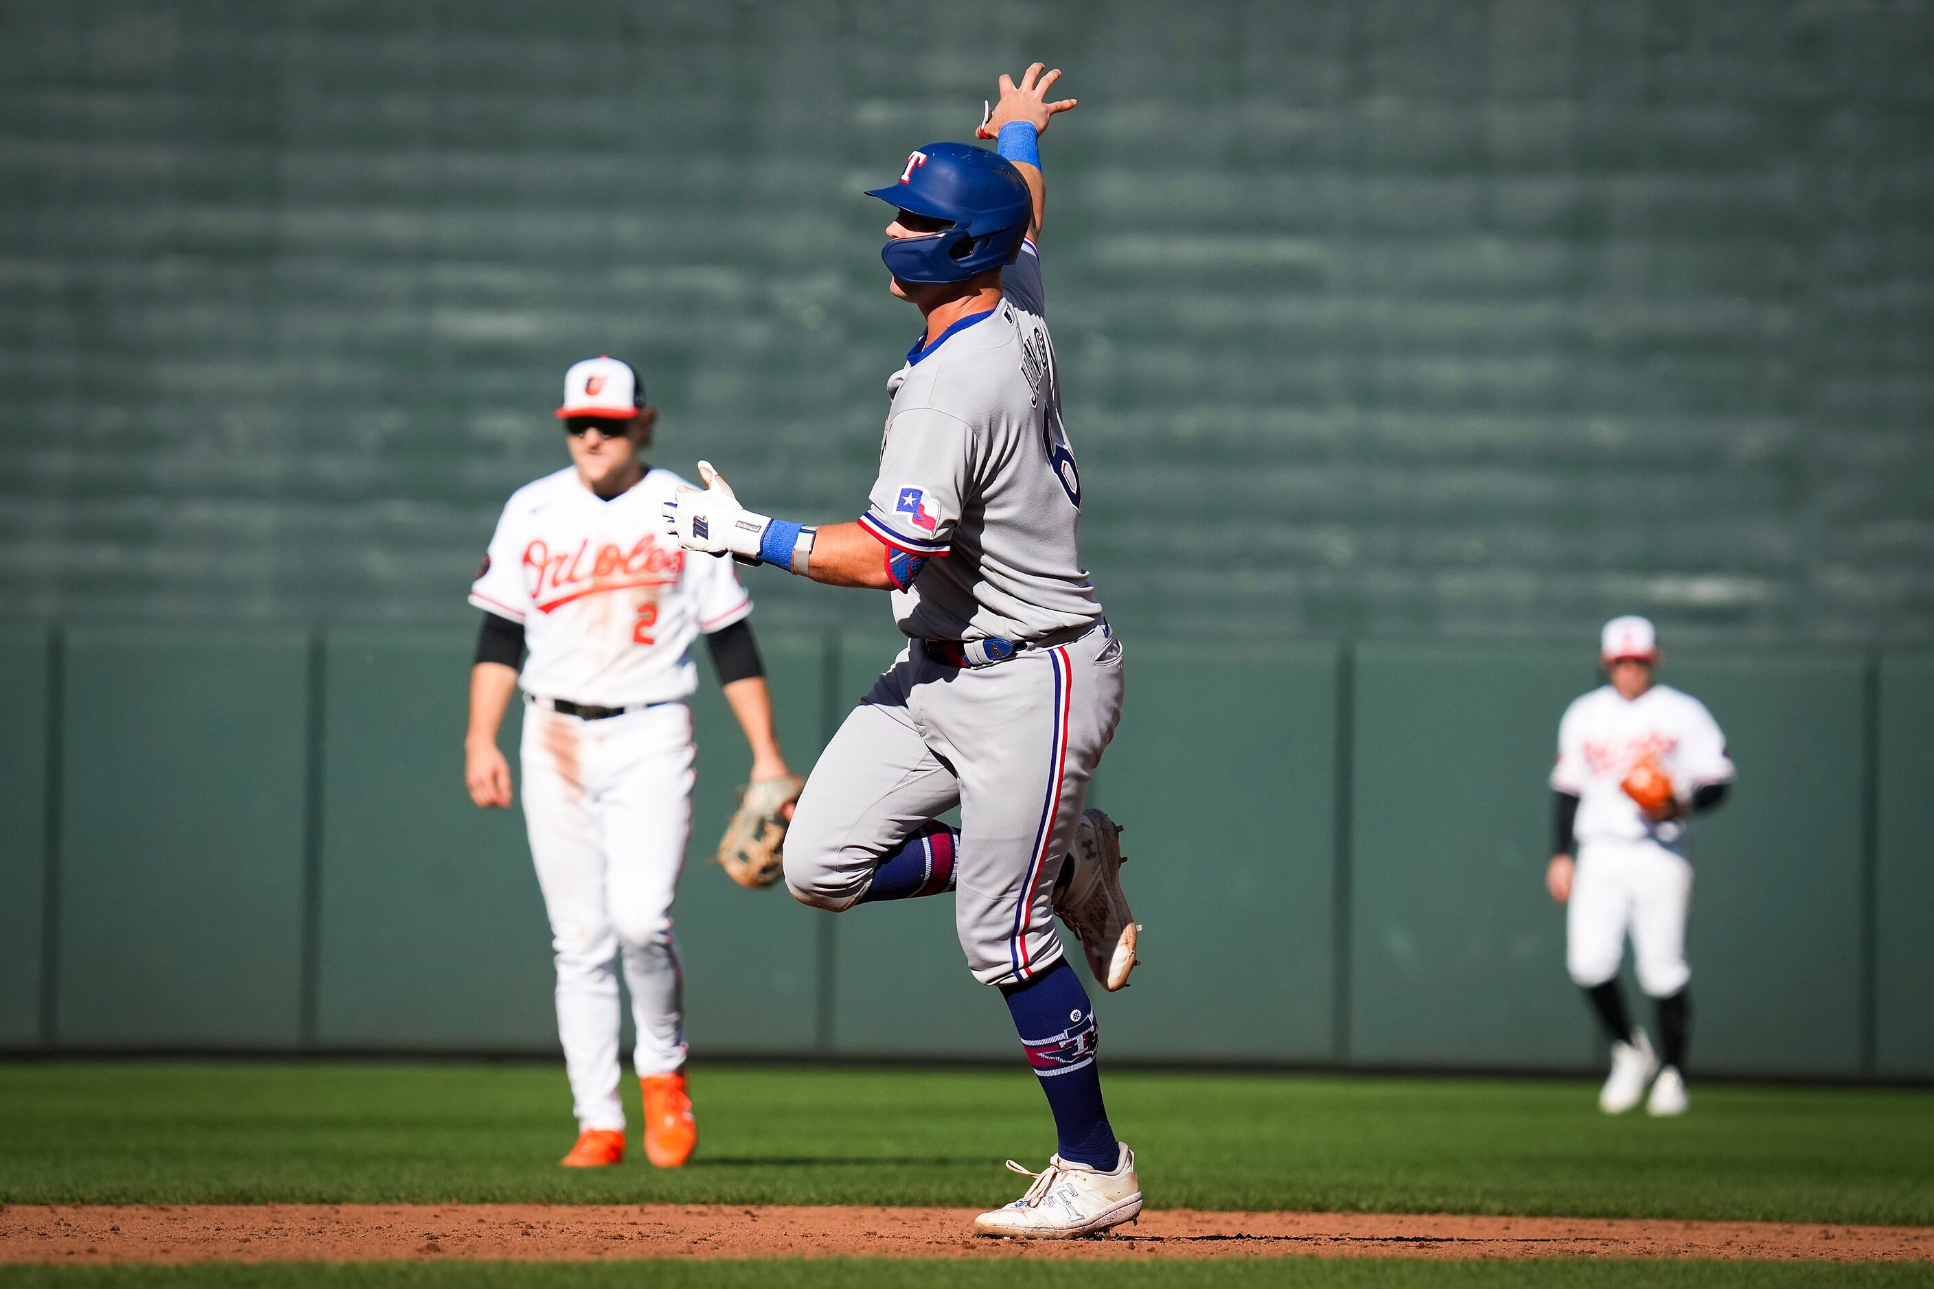
[[[1611, 1036], [1611, 1076], [1599, 1107], [1625, 1113], [1650, 1084], [1650, 1113], [1683, 1115], [1692, 816], [1719, 804], [1733, 761], [1704, 703], [1654, 684], [1659, 645], [1652, 622], [1607, 622], [1599, 661], [1611, 684], [1572, 702], [1559, 723], [1551, 771], [1557, 843], [1545, 885], [1567, 904], [1570, 978]], [[1657, 1051], [1630, 1022], [1619, 989], [1626, 933], [1638, 984], [1657, 1001]]]

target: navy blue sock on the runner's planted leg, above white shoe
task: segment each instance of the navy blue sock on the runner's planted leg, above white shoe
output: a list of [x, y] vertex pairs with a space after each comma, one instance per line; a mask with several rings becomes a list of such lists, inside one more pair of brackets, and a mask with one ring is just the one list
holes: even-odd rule
[[1002, 986], [1013, 1028], [1021, 1032], [1027, 1063], [1040, 1078], [1054, 1111], [1056, 1154], [1112, 1173], [1122, 1148], [1108, 1127], [1095, 1065], [1095, 1009], [1075, 968], [1062, 959], [1040, 976]]

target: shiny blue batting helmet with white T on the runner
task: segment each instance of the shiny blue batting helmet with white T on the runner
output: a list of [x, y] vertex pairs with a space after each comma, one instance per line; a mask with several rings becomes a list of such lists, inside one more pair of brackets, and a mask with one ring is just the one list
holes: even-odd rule
[[1021, 172], [1006, 157], [967, 143], [928, 143], [907, 157], [899, 184], [866, 195], [952, 222], [930, 236], [886, 243], [880, 259], [901, 282], [961, 282], [1011, 265], [1035, 215]]

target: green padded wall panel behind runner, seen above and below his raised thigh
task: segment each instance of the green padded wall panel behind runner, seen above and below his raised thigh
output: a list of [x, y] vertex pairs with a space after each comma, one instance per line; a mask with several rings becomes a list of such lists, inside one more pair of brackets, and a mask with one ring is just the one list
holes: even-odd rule
[[[839, 642], [834, 709], [843, 719], [905, 638], [857, 632]], [[1000, 991], [975, 984], [953, 931], [953, 897], [861, 904], [834, 928], [834, 1049], [868, 1057], [1013, 1057], [1019, 1040]], [[1102, 1013], [1106, 1022], [1106, 1011]]]

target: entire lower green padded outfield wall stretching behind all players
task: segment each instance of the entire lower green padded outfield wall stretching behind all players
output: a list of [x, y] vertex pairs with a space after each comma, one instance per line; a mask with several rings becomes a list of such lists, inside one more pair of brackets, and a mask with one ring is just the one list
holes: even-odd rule
[[[776, 636], [810, 763], [890, 634]], [[0, 634], [0, 1047], [555, 1049], [522, 819], [462, 788], [472, 638]], [[1099, 999], [1139, 1061], [1570, 1071], [1597, 1040], [1543, 895], [1590, 642], [1128, 642], [1095, 783], [1147, 926]], [[1934, 657], [1685, 651], [1739, 765], [1698, 825], [1700, 1073], [1934, 1078]], [[830, 916], [704, 862], [747, 754], [706, 680], [677, 933], [700, 1055], [1004, 1059], [952, 901]], [[516, 717], [505, 730], [514, 750]]]

